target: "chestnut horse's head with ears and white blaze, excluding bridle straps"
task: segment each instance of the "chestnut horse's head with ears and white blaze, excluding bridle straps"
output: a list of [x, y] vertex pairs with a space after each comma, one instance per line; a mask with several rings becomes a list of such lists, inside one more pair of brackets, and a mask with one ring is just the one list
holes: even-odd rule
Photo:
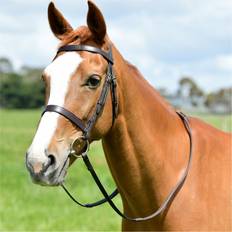
[[[88, 2], [88, 27], [74, 30], [53, 3], [48, 7], [52, 32], [65, 45], [90, 45], [103, 51], [110, 49], [106, 25], [99, 9]], [[88, 51], [60, 51], [42, 75], [46, 85], [46, 104], [67, 109], [85, 124], [96, 110], [109, 63], [104, 56]], [[104, 136], [112, 126], [112, 104], [107, 95], [104, 109], [90, 131], [89, 140]], [[58, 185], [64, 180], [70, 163], [70, 150], [83, 131], [57, 112], [46, 111], [41, 117], [26, 165], [32, 179], [39, 184]], [[73, 161], [73, 160], [72, 160]], [[71, 161], [71, 162], [72, 162]]]

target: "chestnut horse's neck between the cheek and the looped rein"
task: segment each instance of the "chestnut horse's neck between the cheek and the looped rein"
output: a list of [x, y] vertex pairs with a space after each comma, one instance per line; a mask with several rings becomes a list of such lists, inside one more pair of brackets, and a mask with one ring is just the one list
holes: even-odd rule
[[175, 111], [139, 72], [120, 66], [119, 115], [103, 147], [125, 211], [142, 216], [141, 207], [144, 214], [154, 211], [177, 182], [186, 150], [175, 137], [185, 135]]

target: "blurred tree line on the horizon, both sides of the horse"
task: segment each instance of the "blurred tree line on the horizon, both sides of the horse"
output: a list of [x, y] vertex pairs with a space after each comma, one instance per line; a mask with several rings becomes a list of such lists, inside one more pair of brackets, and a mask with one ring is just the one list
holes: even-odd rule
[[[0, 58], [0, 107], [1, 108], [39, 108], [44, 105], [45, 87], [41, 81], [42, 68], [23, 66], [15, 71], [11, 61]], [[174, 94], [165, 88], [159, 89], [161, 95], [178, 107], [187, 102], [194, 108], [205, 107], [209, 111], [232, 111], [232, 87], [221, 88], [206, 93], [191, 77], [182, 77]], [[179, 99], [179, 103], [175, 103]]]

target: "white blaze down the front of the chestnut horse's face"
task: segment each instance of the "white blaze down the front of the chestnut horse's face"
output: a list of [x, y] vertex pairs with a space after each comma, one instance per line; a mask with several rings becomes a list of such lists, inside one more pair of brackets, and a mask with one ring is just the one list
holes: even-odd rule
[[[64, 105], [69, 81], [81, 61], [82, 58], [78, 53], [67, 52], [57, 57], [47, 66], [44, 73], [50, 78], [50, 96], [48, 105]], [[43, 115], [29, 149], [30, 158], [40, 160], [41, 162], [46, 159], [44, 151], [47, 149], [56, 130], [58, 117], [59, 114], [54, 112], [46, 112]]]

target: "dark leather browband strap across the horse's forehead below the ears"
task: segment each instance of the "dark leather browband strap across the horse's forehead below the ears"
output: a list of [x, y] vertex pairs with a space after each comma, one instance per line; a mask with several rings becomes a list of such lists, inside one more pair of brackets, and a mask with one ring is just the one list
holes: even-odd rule
[[109, 63], [114, 64], [111, 52], [105, 52], [100, 48], [92, 47], [89, 45], [65, 45], [58, 49], [58, 52], [72, 52], [72, 51], [87, 51], [102, 55]]

